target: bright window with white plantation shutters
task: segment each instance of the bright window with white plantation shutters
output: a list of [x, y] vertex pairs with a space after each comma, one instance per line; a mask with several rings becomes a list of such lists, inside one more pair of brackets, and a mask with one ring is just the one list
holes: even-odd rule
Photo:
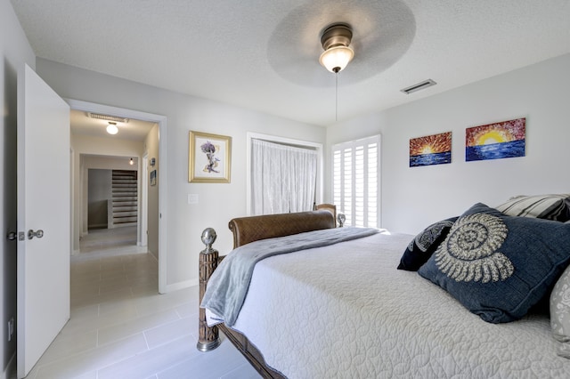
[[332, 199], [346, 225], [379, 227], [380, 136], [332, 146]]

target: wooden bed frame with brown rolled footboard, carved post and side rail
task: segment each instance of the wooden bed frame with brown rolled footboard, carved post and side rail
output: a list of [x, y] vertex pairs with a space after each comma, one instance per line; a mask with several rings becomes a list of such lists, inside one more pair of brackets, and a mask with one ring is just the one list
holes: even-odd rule
[[[229, 223], [229, 228], [233, 233], [233, 248], [236, 248], [259, 239], [335, 228], [335, 218], [328, 211], [268, 214], [232, 219]], [[204, 242], [207, 248], [200, 253], [199, 259], [199, 302], [202, 301], [202, 297], [206, 292], [208, 279], [216, 270], [218, 263], [224, 259], [224, 256], [219, 256], [218, 252], [211, 246], [215, 239], [215, 230], [208, 228], [202, 233], [202, 242]], [[259, 374], [265, 378], [285, 377], [265, 364], [263, 355], [260, 351], [257, 351], [252, 343], [249, 343], [245, 335], [241, 335], [224, 324], [208, 327], [206, 312], [201, 308], [199, 309], [199, 341], [197, 346], [199, 351], [216, 349], [219, 345], [218, 328], [224, 332], [228, 340], [248, 359], [249, 363], [256, 368]]]

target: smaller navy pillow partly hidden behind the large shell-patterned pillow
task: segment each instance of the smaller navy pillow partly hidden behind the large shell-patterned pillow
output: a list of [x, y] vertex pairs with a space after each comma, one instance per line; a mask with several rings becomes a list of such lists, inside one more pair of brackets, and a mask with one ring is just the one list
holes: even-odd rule
[[425, 262], [428, 262], [431, 254], [434, 254], [437, 246], [447, 237], [453, 222], [458, 218], [452, 217], [432, 223], [422, 230], [403, 251], [398, 270], [417, 271]]

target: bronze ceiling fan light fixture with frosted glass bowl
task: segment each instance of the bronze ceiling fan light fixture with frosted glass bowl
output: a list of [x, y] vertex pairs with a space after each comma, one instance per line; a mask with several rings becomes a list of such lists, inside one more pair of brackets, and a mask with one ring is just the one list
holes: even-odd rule
[[330, 25], [322, 32], [322, 52], [319, 62], [330, 72], [338, 73], [353, 60], [354, 50], [349, 46], [353, 31], [349, 25], [338, 23]]

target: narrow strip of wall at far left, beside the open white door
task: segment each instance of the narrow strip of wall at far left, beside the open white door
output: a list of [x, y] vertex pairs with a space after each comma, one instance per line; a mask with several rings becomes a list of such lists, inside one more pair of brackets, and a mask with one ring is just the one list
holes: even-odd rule
[[[16, 340], [8, 342], [7, 325], [16, 319], [17, 242], [8, 241], [8, 231], [16, 231], [16, 126], [17, 77], [24, 63], [36, 67], [36, 56], [20, 27], [8, 0], [0, 0], [0, 378], [8, 377], [9, 365], [15, 367]], [[12, 360], [11, 360], [12, 359]]]

